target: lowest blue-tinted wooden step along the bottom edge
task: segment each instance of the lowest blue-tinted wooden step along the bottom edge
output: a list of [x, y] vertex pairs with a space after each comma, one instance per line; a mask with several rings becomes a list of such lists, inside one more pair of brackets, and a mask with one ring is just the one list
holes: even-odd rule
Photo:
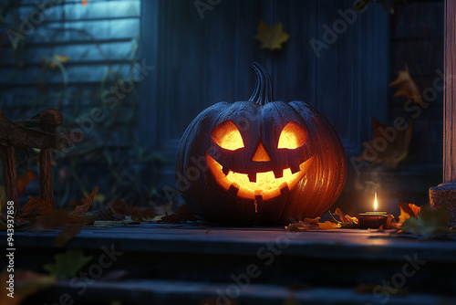
[[[244, 275], [244, 274], [243, 274]], [[107, 300], [134, 302], [135, 304], [374, 304], [388, 300], [397, 305], [429, 305], [441, 302], [441, 296], [430, 293], [413, 293], [406, 295], [374, 294], [366, 291], [357, 292], [355, 287], [286, 287], [277, 284], [255, 284], [254, 279], [245, 277], [241, 281], [226, 283], [199, 282], [185, 280], [136, 279], [107, 281], [96, 280], [88, 286], [87, 291], [79, 296], [82, 287], [76, 287], [70, 280], [61, 280], [57, 287], [47, 289], [36, 297], [35, 302], [58, 302], [58, 297], [65, 295], [77, 302], [101, 303]], [[82, 283], [82, 281], [81, 281]], [[375, 286], [372, 287], [374, 289]], [[382, 290], [384, 291], [384, 290]], [[230, 299], [228, 296], [235, 297]], [[444, 299], [454, 302], [453, 297]]]

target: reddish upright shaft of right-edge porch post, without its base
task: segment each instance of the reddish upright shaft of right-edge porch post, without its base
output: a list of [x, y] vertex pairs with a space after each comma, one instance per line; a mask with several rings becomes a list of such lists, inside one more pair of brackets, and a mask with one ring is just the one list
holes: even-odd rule
[[456, 2], [445, 1], [443, 182], [456, 183]]

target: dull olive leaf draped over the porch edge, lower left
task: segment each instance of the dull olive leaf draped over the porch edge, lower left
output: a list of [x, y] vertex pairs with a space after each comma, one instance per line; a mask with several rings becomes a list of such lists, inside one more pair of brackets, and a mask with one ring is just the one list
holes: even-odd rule
[[55, 256], [56, 262], [43, 266], [49, 273], [58, 279], [68, 279], [74, 277], [90, 260], [91, 256], [84, 256], [82, 249], [67, 249], [65, 253]]

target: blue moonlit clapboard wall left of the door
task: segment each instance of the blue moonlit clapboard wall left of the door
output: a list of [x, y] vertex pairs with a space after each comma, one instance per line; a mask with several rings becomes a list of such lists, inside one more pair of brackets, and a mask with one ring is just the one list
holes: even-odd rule
[[[16, 49], [3, 35], [2, 109], [9, 118], [20, 120], [54, 107], [64, 114], [64, 128], [84, 131], [84, 144], [54, 166], [57, 202], [78, 199], [96, 185], [109, 195], [115, 190], [113, 185], [119, 184], [112, 171], [119, 170], [119, 164], [130, 166], [130, 155], [136, 153], [132, 146], [138, 128], [138, 98], [133, 90], [110, 109], [102, 96], [119, 79], [130, 79], [130, 70], [139, 59], [140, 0], [90, 0], [88, 5], [47, 0], [47, 9], [40, 14], [35, 0], [0, 5], [7, 4], [14, 5], [5, 14], [3, 33], [19, 31], [31, 14], [41, 15], [42, 21], [35, 23], [24, 45]], [[54, 60], [55, 55], [69, 57], [63, 69], [49, 66], [47, 60]], [[102, 110], [104, 119], [90, 125], [86, 120], [94, 109]], [[26, 166], [37, 168], [33, 162]], [[36, 194], [29, 190], [27, 195]]]

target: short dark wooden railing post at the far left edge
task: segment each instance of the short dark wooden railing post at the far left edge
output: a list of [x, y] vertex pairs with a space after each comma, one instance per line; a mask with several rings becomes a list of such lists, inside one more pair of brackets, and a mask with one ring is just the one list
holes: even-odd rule
[[6, 201], [14, 201], [15, 208], [19, 208], [19, 197], [17, 195], [17, 174], [16, 174], [16, 149], [13, 146], [0, 146], [5, 171]]

